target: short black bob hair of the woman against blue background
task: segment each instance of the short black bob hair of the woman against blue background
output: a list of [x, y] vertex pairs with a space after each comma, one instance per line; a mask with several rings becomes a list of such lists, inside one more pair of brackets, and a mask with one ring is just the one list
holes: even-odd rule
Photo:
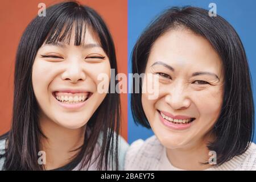
[[[224, 98], [220, 115], [213, 127], [216, 140], [208, 149], [217, 152], [217, 165], [243, 154], [254, 133], [254, 103], [250, 71], [245, 50], [234, 28], [221, 16], [209, 16], [197, 7], [173, 7], [164, 11], [144, 30], [132, 51], [133, 74], [145, 71], [150, 49], [165, 32], [185, 27], [207, 39], [221, 57], [224, 67]], [[142, 88], [131, 94], [135, 123], [150, 128], [142, 107]], [[133, 82], [133, 91], [135, 82]]]

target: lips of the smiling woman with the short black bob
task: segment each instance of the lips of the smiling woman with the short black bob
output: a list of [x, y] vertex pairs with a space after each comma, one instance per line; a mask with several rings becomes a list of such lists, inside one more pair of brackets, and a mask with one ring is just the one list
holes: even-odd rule
[[[162, 112], [162, 113], [164, 115], [166, 115], [164, 112]], [[164, 126], [168, 127], [169, 129], [172, 129], [172, 130], [185, 130], [185, 129], [188, 129], [189, 127], [192, 126], [192, 122], [191, 123], [187, 123], [187, 124], [175, 124], [175, 123], [172, 123], [172, 122], [167, 121], [166, 119], [164, 119], [162, 117], [162, 115], [160, 114], [160, 111], [158, 111], [158, 114], [159, 114], [160, 121], [163, 123]], [[166, 115], [166, 116], [168, 116], [168, 115]], [[180, 115], [178, 115], [178, 116], [180, 117]], [[168, 117], [170, 117], [170, 116], [168, 116]], [[189, 118], [191, 118], [191, 117], [187, 117], [187, 118], [184, 118], [184, 119], [189, 119]], [[177, 116], [176, 116], [175, 119], [177, 119]]]

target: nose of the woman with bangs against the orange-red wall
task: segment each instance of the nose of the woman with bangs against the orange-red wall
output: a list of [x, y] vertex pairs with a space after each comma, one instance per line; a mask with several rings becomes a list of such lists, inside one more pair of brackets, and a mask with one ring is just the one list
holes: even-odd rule
[[78, 63], [79, 61], [73, 61], [67, 65], [65, 72], [61, 75], [63, 80], [69, 80], [72, 83], [76, 83], [78, 81], [83, 81], [86, 79], [86, 75], [84, 70], [82, 69], [82, 65]]

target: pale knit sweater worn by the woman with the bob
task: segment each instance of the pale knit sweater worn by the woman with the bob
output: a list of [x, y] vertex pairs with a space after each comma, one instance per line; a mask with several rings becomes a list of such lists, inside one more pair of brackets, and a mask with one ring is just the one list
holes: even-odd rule
[[[180, 171], [183, 169], [172, 166], [166, 154], [166, 148], [154, 136], [143, 141], [136, 140], [126, 152], [125, 170], [146, 171]], [[221, 166], [213, 166], [207, 171], [256, 171], [256, 144], [250, 143], [242, 154], [234, 156]]]

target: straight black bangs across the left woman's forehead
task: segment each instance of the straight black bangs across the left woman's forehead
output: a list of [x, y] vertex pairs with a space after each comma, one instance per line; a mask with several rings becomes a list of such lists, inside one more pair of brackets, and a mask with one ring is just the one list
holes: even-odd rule
[[[49, 7], [51, 9], [51, 7]], [[55, 10], [58, 11], [58, 10]], [[61, 12], [56, 16], [53, 14], [49, 24], [47, 37], [44, 40], [44, 44], [70, 44], [72, 33], [75, 33], [74, 46], [82, 46], [86, 44], [85, 34], [90, 32], [93, 39], [104, 49], [108, 57], [111, 56], [112, 45], [108, 42], [109, 35], [106, 34], [107, 27], [104, 24], [102, 27], [103, 20], [95, 18], [96, 14], [94, 11], [86, 6], [79, 6], [75, 8], [75, 11], [69, 12], [68, 10], [61, 9]], [[102, 22], [101, 22], [102, 21]], [[112, 65], [110, 61], [110, 65]]]

